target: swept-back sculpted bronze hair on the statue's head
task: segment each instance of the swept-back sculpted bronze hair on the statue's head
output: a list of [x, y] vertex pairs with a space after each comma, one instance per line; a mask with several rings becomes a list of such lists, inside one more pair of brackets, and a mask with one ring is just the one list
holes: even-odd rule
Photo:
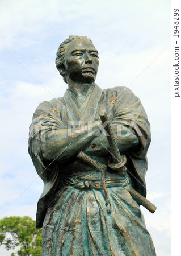
[[83, 40], [83, 39], [88, 40], [92, 43], [92, 40], [87, 38], [87, 36], [73, 36], [73, 35], [70, 35], [69, 38], [66, 39], [64, 42], [62, 42], [60, 44], [60, 46], [58, 47], [57, 57], [55, 59], [55, 64], [56, 64], [56, 67], [57, 67], [58, 71], [60, 72], [60, 75], [63, 76], [65, 82], [66, 82], [66, 74], [62, 73], [60, 68], [65, 63], [65, 56], [66, 56], [66, 53], [67, 53], [68, 43], [73, 42], [75, 40]]

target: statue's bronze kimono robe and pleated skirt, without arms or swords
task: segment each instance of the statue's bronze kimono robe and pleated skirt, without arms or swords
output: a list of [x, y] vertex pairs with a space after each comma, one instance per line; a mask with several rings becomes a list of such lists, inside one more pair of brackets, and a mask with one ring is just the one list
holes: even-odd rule
[[[53, 163], [46, 161], [41, 152], [44, 136], [52, 129], [67, 129], [67, 121], [98, 120], [104, 109], [112, 125], [123, 122], [139, 138], [138, 147], [121, 152], [127, 157], [126, 175], [106, 172], [110, 213], [101, 174], [77, 158], [81, 148], [74, 145], [74, 156]], [[92, 143], [94, 140], [90, 147]], [[125, 87], [102, 90], [95, 84], [79, 108], [67, 89], [64, 97], [44, 101], [37, 107], [30, 126], [28, 151], [44, 181], [36, 214], [36, 228], [43, 226], [42, 255], [155, 255], [140, 205], [125, 188], [129, 185], [146, 197], [149, 144], [150, 125], [145, 110], [140, 99]], [[91, 157], [107, 163], [108, 155], [100, 157], [95, 151]]]

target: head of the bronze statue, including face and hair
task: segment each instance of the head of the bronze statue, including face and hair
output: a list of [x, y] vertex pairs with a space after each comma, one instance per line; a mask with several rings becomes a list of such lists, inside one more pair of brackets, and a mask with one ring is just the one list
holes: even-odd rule
[[70, 35], [60, 44], [56, 67], [68, 82], [68, 77], [75, 82], [94, 82], [98, 71], [98, 51], [91, 39], [86, 36]]

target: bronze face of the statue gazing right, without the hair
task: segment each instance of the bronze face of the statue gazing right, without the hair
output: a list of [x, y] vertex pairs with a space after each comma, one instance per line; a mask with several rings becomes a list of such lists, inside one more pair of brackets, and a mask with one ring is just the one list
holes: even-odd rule
[[74, 82], [91, 83], [98, 72], [98, 51], [88, 40], [76, 40], [67, 46], [65, 71]]

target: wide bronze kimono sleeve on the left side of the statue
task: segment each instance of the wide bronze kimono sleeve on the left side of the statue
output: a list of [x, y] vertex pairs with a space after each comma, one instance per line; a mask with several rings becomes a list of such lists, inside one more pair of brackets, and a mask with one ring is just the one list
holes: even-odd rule
[[45, 142], [45, 138], [47, 136], [50, 137], [52, 131], [64, 128], [60, 119], [60, 113], [57, 110], [58, 108], [54, 105], [56, 105], [54, 101], [44, 101], [41, 103], [35, 110], [30, 125], [28, 152], [37, 174], [44, 181], [44, 192], [41, 197], [50, 189], [58, 171], [56, 159], [52, 162], [47, 162], [41, 154], [41, 147]]

